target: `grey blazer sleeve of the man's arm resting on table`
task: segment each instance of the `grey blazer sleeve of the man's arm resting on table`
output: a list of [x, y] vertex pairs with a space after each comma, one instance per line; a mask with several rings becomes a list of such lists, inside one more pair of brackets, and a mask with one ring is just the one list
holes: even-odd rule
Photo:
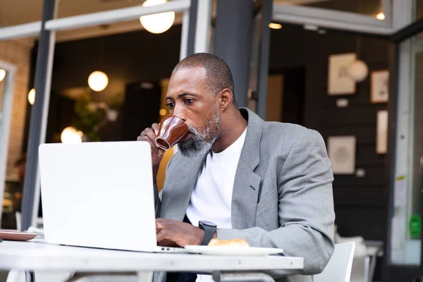
[[317, 131], [304, 130], [278, 175], [280, 227], [273, 231], [218, 228], [217, 238], [243, 238], [252, 247], [278, 247], [286, 256], [304, 258], [304, 269], [274, 271], [273, 276], [318, 274], [334, 249], [332, 182], [323, 138]]

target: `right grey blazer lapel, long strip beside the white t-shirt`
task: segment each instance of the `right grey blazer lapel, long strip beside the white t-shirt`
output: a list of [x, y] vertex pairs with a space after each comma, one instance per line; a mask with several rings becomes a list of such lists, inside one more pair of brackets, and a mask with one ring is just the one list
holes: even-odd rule
[[247, 119], [247, 135], [235, 173], [232, 194], [232, 228], [255, 226], [257, 201], [262, 178], [255, 173], [259, 164], [259, 145], [262, 137], [262, 120], [248, 109], [240, 109]]

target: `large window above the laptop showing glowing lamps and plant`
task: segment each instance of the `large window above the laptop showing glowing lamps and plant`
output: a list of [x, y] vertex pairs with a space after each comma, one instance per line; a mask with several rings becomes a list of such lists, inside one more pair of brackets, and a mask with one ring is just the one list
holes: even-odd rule
[[[139, 20], [131, 24], [57, 32], [47, 143], [137, 140], [168, 114], [164, 97], [182, 26], [154, 34]], [[172, 152], [161, 162], [159, 188]]]

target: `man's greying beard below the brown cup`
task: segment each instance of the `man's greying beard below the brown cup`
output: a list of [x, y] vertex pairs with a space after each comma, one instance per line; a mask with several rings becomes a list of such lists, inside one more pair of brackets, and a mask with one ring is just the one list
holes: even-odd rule
[[204, 132], [200, 132], [195, 128], [190, 128], [190, 133], [194, 137], [184, 142], [178, 143], [178, 149], [180, 154], [184, 157], [202, 157], [207, 154], [214, 141], [216, 141], [217, 133], [219, 132], [220, 118], [217, 112], [214, 112], [212, 119], [209, 119], [206, 123]]

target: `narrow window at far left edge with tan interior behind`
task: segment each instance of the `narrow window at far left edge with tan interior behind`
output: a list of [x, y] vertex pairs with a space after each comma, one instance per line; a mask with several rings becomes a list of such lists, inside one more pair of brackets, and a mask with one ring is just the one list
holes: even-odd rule
[[[17, 228], [16, 212], [20, 212], [22, 200], [26, 147], [24, 128], [29, 118], [27, 109], [30, 107], [28, 85], [32, 44], [30, 39], [0, 42], [0, 197], [1, 228], [6, 229]], [[10, 66], [16, 68], [14, 80], [8, 79], [11, 75]], [[5, 134], [6, 131], [8, 134]]]

